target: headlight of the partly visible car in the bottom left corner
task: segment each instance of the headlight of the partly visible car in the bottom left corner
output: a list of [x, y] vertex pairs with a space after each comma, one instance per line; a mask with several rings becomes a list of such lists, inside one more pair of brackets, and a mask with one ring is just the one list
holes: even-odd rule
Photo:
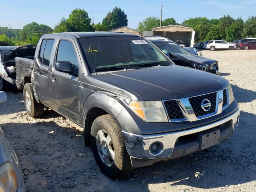
[[0, 166], [0, 192], [16, 192], [18, 187], [17, 176], [10, 162]]

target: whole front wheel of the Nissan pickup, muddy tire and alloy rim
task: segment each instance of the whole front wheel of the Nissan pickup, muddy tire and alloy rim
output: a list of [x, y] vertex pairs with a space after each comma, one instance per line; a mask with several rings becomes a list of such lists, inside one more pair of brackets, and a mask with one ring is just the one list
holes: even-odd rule
[[100, 170], [109, 178], [120, 179], [134, 170], [121, 130], [110, 115], [99, 116], [92, 123], [91, 144]]

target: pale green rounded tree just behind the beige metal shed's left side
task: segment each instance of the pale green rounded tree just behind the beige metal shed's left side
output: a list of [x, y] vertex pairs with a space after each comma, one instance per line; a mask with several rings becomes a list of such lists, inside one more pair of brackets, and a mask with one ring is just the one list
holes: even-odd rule
[[146, 17], [138, 23], [137, 30], [140, 32], [151, 31], [155, 27], [160, 26], [160, 19], [158, 17]]

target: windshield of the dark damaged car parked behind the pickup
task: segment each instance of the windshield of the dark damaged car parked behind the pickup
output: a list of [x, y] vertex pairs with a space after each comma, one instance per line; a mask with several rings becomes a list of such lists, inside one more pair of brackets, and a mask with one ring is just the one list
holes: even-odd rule
[[162, 52], [164, 53], [178, 53], [178, 54], [185, 54], [191, 55], [186, 49], [182, 48], [181, 46], [177, 45], [176, 43], [172, 42], [161, 42], [161, 43], [154, 43]]

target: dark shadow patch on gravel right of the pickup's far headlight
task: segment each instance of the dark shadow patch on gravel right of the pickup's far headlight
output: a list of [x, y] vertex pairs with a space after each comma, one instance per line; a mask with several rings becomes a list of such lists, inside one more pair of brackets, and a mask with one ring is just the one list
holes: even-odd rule
[[238, 103], [247, 103], [256, 99], [255, 91], [240, 88], [233, 84], [231, 84], [231, 87]]

